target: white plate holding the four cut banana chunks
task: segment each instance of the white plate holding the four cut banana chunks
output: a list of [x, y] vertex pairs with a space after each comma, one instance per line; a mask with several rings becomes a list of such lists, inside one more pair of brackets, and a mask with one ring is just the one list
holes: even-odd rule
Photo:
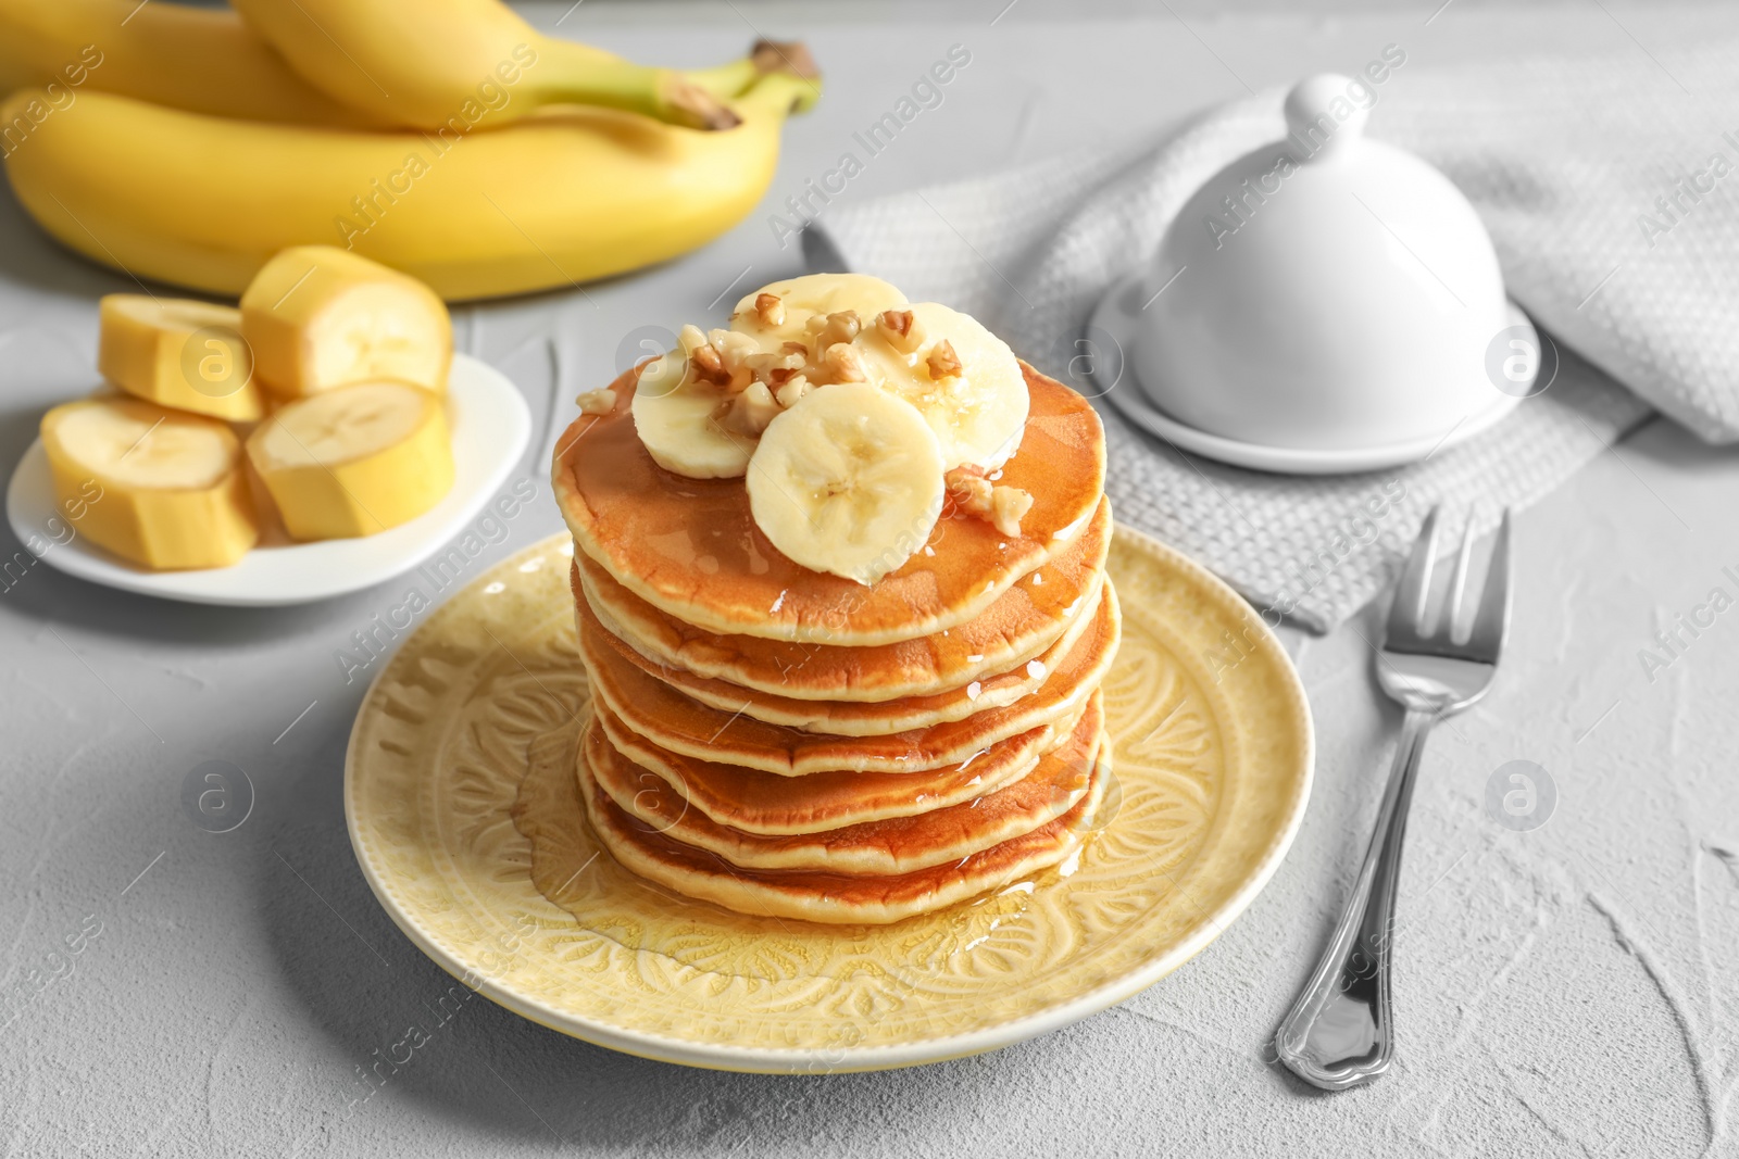
[[[501, 487], [501, 483], [513, 471], [513, 464], [516, 464], [520, 457], [525, 454], [525, 448], [530, 445], [532, 419], [530, 419], [530, 407], [527, 405], [525, 396], [520, 393], [518, 386], [513, 384], [513, 379], [510, 379], [506, 374], [490, 367], [483, 360], [473, 358], [461, 351], [454, 351], [452, 361], [454, 367], [463, 367], [464, 374], [471, 379], [471, 382], [475, 382], [478, 389], [478, 401], [482, 405], [494, 407], [504, 412], [503, 417], [511, 431], [508, 440], [510, 454], [501, 455], [497, 462], [492, 462], [489, 466], [489, 469], [483, 474], [482, 485], [463, 504], [461, 507], [463, 516], [454, 518], [454, 523], [463, 528], [464, 523], [468, 523], [473, 516], [476, 516], [478, 511], [482, 511], [483, 504], [489, 502], [489, 495]], [[12, 476], [7, 481], [7, 492], [5, 492], [7, 525], [12, 528], [12, 533], [19, 539], [19, 542], [24, 542], [30, 533], [35, 533], [35, 528], [31, 528], [28, 523], [30, 513], [24, 513], [21, 509], [21, 502], [14, 500], [14, 495], [19, 492], [21, 481], [24, 481], [31, 473], [37, 471], [47, 471], [47, 452], [42, 447], [40, 434], [35, 440], [31, 440], [30, 447], [24, 448], [24, 454], [19, 455], [17, 466], [12, 469]], [[125, 591], [137, 596], [151, 596], [155, 599], [169, 599], [174, 603], [191, 603], [200, 606], [219, 606], [219, 608], [290, 608], [310, 603], [320, 603], [323, 599], [336, 599], [339, 596], [348, 596], [374, 587], [377, 584], [384, 584], [398, 575], [403, 575], [419, 563], [426, 561], [442, 547], [442, 544], [447, 542], [447, 539], [450, 539], [450, 535], [442, 539], [431, 539], [426, 546], [419, 546], [416, 551], [409, 553], [390, 572], [383, 575], [370, 573], [370, 579], [367, 579], [365, 582], [343, 582], [339, 586], [316, 589], [311, 594], [301, 594], [294, 598], [287, 598], [282, 594], [250, 596], [243, 591], [176, 589], [172, 580], [165, 582], [165, 577], [209, 575], [212, 572], [223, 572], [226, 568], [195, 568], [190, 572], [130, 572], [130, 570], [122, 570], [122, 565], [115, 563], [110, 553], [101, 547], [94, 549], [103, 553], [101, 556], [92, 554], [92, 547], [82, 547], [77, 553], [68, 553], [64, 549], [59, 549], [59, 551], [45, 551], [40, 556], [35, 556], [35, 553], [31, 554], [35, 556], [35, 560], [47, 563], [63, 575], [71, 575], [73, 579], [80, 579], [87, 584], [97, 584], [103, 587], [110, 587], [113, 591]], [[330, 544], [287, 544], [283, 547], [318, 549], [327, 546]], [[104, 570], [97, 570], [96, 566], [87, 566], [87, 561], [96, 565], [104, 565]], [[70, 563], [71, 566], [68, 566]], [[337, 573], [343, 575], [343, 570], [339, 570]]]

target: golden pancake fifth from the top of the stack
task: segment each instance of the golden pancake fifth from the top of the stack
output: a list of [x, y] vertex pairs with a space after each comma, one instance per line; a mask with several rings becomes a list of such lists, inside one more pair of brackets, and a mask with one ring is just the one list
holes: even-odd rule
[[624, 726], [603, 704], [595, 702], [591, 711], [617, 752], [657, 773], [690, 808], [722, 825], [769, 838], [913, 817], [996, 792], [1033, 772], [1038, 758], [1066, 740], [1082, 718], [1064, 716], [974, 752], [960, 765], [916, 773], [779, 777], [680, 756]]

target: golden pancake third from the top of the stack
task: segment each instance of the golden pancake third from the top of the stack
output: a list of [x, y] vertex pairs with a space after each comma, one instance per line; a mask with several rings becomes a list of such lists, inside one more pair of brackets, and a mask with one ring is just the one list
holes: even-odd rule
[[1076, 617], [1057, 643], [1038, 653], [1026, 664], [996, 672], [984, 679], [976, 679], [965, 688], [939, 692], [929, 697], [903, 697], [899, 700], [793, 700], [776, 697], [755, 688], [727, 685], [722, 679], [708, 679], [694, 672], [683, 672], [668, 666], [654, 664], [623, 643], [602, 622], [591, 605], [581, 603], [577, 608], [581, 631], [588, 627], [602, 632], [603, 639], [616, 648], [616, 653], [638, 667], [647, 676], [663, 679], [676, 692], [699, 700], [701, 704], [723, 709], [725, 712], [743, 712], [769, 725], [788, 725], [805, 732], [824, 732], [833, 737], [887, 737], [890, 733], [911, 732], [915, 728], [934, 728], [972, 716], [1000, 709], [1029, 697], [1050, 678], [1063, 657], [1092, 627], [1092, 613], [1099, 603], [1085, 615]]

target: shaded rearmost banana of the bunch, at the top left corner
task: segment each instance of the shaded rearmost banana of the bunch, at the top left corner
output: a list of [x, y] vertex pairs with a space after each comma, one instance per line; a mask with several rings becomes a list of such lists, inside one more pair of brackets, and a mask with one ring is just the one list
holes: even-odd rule
[[0, 0], [0, 92], [49, 83], [214, 116], [391, 123], [306, 83], [235, 12], [158, 0]]

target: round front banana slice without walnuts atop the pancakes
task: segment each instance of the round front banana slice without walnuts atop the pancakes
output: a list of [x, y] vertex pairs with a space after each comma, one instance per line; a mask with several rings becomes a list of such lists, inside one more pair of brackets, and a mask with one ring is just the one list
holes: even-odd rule
[[750, 513], [795, 563], [875, 584], [943, 511], [943, 452], [911, 403], [868, 382], [803, 394], [762, 434]]

